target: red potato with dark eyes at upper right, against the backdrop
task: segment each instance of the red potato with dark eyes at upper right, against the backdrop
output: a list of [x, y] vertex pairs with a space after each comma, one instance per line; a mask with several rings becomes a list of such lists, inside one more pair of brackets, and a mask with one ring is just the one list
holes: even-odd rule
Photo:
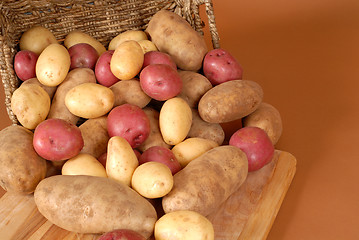
[[242, 79], [243, 69], [229, 52], [219, 48], [209, 51], [204, 57], [203, 73], [212, 85], [218, 85]]

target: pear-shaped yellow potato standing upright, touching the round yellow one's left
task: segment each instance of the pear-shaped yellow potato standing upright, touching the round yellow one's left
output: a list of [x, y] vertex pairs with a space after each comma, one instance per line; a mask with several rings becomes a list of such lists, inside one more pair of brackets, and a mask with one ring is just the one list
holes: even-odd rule
[[107, 147], [107, 176], [130, 186], [138, 159], [131, 145], [120, 136], [111, 137]]

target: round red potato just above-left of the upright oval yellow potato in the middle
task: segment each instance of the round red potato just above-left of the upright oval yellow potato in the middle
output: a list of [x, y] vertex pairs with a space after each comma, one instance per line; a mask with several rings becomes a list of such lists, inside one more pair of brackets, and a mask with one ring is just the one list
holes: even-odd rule
[[176, 69], [167, 64], [151, 64], [140, 73], [142, 90], [151, 98], [165, 101], [182, 91], [182, 80]]

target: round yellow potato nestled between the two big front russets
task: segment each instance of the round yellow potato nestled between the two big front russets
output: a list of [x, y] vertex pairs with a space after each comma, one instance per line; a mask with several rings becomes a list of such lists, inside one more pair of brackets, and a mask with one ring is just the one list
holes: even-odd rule
[[136, 168], [131, 186], [145, 198], [160, 198], [173, 187], [171, 170], [160, 162], [146, 162]]

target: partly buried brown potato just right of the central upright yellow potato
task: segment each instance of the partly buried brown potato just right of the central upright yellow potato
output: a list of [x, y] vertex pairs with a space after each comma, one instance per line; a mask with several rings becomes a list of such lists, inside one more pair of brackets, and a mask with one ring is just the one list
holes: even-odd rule
[[203, 121], [197, 109], [192, 108], [192, 116], [192, 126], [188, 132], [188, 137], [205, 138], [216, 142], [218, 145], [222, 145], [225, 133], [220, 124]]

